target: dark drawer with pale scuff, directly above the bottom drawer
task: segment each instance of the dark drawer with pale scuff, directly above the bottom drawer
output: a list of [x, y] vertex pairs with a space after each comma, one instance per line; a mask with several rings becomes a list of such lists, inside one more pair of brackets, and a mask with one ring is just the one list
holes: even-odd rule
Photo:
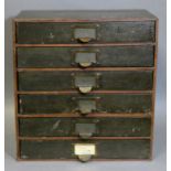
[[23, 137], [150, 137], [149, 118], [23, 118]]

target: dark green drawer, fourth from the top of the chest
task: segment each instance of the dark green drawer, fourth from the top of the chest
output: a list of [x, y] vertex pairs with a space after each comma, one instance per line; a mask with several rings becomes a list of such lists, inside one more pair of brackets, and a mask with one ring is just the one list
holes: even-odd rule
[[151, 94], [19, 95], [19, 114], [150, 114]]

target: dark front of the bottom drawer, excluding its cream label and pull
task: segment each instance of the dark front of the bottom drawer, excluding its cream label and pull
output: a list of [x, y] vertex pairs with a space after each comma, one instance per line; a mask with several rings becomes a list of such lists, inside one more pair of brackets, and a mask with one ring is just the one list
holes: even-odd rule
[[[150, 140], [88, 140], [96, 147], [93, 159], [149, 159]], [[21, 159], [77, 159], [78, 140], [21, 141]]]

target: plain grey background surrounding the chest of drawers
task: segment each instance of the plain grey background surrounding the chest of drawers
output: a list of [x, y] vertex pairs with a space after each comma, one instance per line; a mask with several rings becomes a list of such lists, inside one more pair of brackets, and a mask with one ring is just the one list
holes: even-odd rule
[[[153, 160], [143, 162], [18, 162], [15, 161], [12, 25], [21, 10], [147, 9], [159, 18], [159, 55]], [[165, 171], [165, 0], [6, 0], [6, 171]]]

